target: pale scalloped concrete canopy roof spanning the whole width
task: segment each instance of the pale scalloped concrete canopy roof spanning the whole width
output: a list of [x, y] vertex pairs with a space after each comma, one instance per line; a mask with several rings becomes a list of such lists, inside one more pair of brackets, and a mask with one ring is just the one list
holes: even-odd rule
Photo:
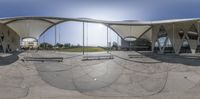
[[[199, 18], [193, 19], [174, 19], [161, 21], [103, 21], [89, 18], [61, 18], [61, 17], [12, 17], [0, 18], [0, 23], [9, 26], [16, 31], [20, 37], [34, 37], [39, 38], [44, 32], [51, 27], [67, 21], [101, 23], [113, 31], [115, 31], [121, 38], [133, 36], [135, 38], [141, 37], [146, 32], [151, 32], [151, 26], [154, 24], [198, 21]], [[151, 35], [151, 33], [149, 33]], [[150, 37], [145, 37], [150, 39]]]

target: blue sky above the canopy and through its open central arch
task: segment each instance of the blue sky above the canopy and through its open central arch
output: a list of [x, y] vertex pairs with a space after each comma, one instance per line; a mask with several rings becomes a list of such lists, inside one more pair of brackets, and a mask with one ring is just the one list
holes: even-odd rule
[[[199, 0], [0, 0], [0, 17], [56, 16], [102, 20], [196, 18], [200, 17], [199, 5]], [[97, 24], [88, 26], [89, 45], [105, 45], [106, 28], [99, 28]], [[58, 27], [60, 42], [81, 43], [81, 23], [64, 23]], [[53, 43], [53, 29], [45, 37], [46, 41]], [[112, 37], [116, 41], [114, 34]]]

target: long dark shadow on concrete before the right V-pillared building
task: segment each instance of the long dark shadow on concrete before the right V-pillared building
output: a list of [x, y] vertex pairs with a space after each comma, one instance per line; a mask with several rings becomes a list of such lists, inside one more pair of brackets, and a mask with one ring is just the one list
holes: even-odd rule
[[200, 66], [200, 56], [197, 55], [191, 55], [191, 54], [177, 55], [174, 53], [157, 54], [152, 52], [138, 52], [138, 53], [161, 62], [184, 64], [189, 66]]

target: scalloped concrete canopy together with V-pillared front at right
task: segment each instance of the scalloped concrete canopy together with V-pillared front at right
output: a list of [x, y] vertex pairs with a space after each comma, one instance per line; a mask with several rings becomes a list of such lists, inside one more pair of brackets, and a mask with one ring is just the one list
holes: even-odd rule
[[[159, 33], [160, 29], [163, 28], [167, 33], [167, 40], [170, 41], [175, 53], [181, 52], [181, 46], [185, 39], [188, 41], [192, 53], [196, 52], [197, 46], [200, 44], [199, 18], [161, 21], [103, 21], [89, 18], [13, 17], [1, 18], [0, 24], [15, 31], [20, 39], [26, 37], [38, 39], [51, 27], [68, 21], [104, 24], [116, 32], [122, 39], [134, 38], [137, 40], [138, 38], [142, 38], [150, 41], [152, 43], [152, 51], [154, 51], [155, 43], [159, 39], [158, 35], [162, 34]], [[180, 37], [180, 32], [183, 32], [184, 38]], [[169, 46], [167, 41], [165, 45]], [[164, 50], [167, 49], [166, 46], [162, 46], [164, 49], [161, 52], [165, 52]]]

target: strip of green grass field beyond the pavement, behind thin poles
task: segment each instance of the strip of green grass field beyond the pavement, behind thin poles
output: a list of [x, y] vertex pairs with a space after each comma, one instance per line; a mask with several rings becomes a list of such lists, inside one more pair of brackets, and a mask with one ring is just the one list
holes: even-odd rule
[[[59, 51], [82, 52], [82, 48], [59, 49]], [[100, 48], [100, 47], [88, 47], [88, 48], [85, 48], [85, 52], [102, 52], [102, 51], [105, 51], [105, 49]]]

